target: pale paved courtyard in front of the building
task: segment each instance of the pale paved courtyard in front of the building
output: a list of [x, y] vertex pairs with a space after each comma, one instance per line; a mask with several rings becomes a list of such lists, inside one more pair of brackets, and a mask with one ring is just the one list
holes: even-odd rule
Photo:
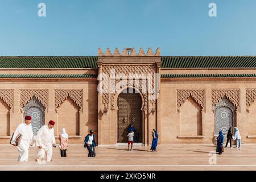
[[[96, 158], [87, 158], [83, 144], [69, 144], [68, 157], [60, 158], [59, 148], [53, 151], [53, 161], [34, 161], [36, 148], [30, 148], [30, 160], [17, 162], [18, 151], [10, 144], [0, 144], [0, 170], [256, 170], [256, 144], [243, 144], [242, 149], [225, 148], [222, 155], [209, 155], [213, 144], [165, 144], [158, 152], [149, 146], [97, 147]], [[210, 163], [209, 163], [210, 158]]]

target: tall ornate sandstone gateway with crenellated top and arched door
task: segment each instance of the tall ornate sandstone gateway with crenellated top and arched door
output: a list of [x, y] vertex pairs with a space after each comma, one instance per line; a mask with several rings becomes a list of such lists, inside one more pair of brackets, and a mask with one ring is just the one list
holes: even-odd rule
[[[155, 53], [151, 48], [147, 53], [143, 48], [138, 53], [135, 48], [124, 48], [122, 53], [116, 48], [113, 54], [109, 48], [105, 53], [98, 49], [98, 143], [127, 142], [129, 124], [134, 123], [138, 131], [135, 142], [149, 144], [152, 128], [148, 126], [160, 130], [157, 99], [161, 64], [160, 48]], [[120, 94], [126, 88], [139, 94]], [[117, 131], [109, 128], [115, 125]]]

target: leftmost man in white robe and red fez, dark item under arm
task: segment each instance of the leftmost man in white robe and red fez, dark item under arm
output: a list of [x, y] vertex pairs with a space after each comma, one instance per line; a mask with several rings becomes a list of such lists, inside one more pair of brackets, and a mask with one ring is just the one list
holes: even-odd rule
[[33, 145], [33, 131], [31, 126], [31, 116], [26, 115], [25, 122], [20, 123], [16, 128], [13, 139], [11, 140], [11, 144], [15, 146], [15, 138], [21, 134], [22, 138], [20, 139], [19, 146], [17, 146], [19, 157], [19, 162], [27, 162], [28, 160], [28, 150], [30, 146]]

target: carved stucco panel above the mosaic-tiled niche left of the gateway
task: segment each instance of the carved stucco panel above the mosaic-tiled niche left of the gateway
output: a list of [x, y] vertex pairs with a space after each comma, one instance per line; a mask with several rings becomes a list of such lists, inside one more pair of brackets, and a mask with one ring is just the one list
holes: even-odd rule
[[20, 106], [25, 106], [33, 97], [48, 108], [48, 89], [28, 89], [20, 90]]

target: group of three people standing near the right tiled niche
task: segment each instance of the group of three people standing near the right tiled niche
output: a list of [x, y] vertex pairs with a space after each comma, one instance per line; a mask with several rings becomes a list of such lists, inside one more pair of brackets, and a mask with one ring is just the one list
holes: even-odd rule
[[[234, 127], [234, 138], [233, 138], [233, 133], [232, 133], [232, 127], [229, 128], [228, 130], [228, 134], [226, 135], [226, 146], [228, 146], [228, 144], [230, 143], [230, 148], [232, 147], [232, 140], [235, 139], [236, 140], [236, 148], [241, 149], [241, 135], [240, 135], [240, 131], [238, 130], [238, 127]], [[216, 152], [218, 154], [222, 154], [222, 152], [224, 152], [224, 135], [222, 133], [222, 131], [219, 132], [219, 135], [217, 137], [217, 149]]]

